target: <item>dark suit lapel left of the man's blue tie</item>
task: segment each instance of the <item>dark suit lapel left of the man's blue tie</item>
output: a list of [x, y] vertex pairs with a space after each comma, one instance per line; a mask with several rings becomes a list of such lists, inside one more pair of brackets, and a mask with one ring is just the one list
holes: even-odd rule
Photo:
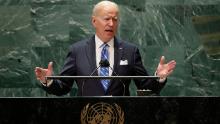
[[[88, 57], [88, 61], [93, 71], [96, 68], [96, 54], [95, 54], [95, 36], [93, 36], [88, 42], [86, 47], [86, 55]], [[93, 76], [97, 76], [97, 71], [93, 74]]]

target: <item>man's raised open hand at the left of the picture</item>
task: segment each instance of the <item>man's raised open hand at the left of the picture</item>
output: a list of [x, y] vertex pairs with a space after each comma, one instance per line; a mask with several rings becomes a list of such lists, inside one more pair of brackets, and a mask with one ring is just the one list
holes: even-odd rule
[[41, 67], [35, 68], [35, 75], [37, 77], [37, 80], [41, 81], [42, 83], [46, 83], [45, 77], [46, 76], [52, 76], [53, 74], [53, 62], [50, 62], [48, 64], [48, 68], [44, 69]]

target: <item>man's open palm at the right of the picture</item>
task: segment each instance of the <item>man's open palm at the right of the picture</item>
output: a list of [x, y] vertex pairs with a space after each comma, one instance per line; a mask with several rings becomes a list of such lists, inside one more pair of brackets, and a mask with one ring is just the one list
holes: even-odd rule
[[160, 63], [158, 64], [157, 67], [157, 76], [159, 76], [162, 79], [166, 78], [173, 72], [175, 66], [176, 66], [175, 60], [172, 60], [165, 64], [165, 57], [162, 56], [160, 58]]

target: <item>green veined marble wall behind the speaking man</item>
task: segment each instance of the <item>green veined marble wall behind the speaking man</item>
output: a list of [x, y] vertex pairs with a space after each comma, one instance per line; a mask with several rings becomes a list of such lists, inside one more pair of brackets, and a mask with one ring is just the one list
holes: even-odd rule
[[[0, 97], [40, 97], [36, 66], [62, 68], [70, 44], [94, 34], [98, 0], [0, 0]], [[153, 74], [160, 56], [177, 67], [162, 96], [220, 95], [219, 0], [115, 0], [118, 37], [139, 46]], [[132, 95], [136, 95], [134, 84]], [[67, 94], [74, 96], [77, 88]], [[50, 97], [55, 97], [50, 95]]]

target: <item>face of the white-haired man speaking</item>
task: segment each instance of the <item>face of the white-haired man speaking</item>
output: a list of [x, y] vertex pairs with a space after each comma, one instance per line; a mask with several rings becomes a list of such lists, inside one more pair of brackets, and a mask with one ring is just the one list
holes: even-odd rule
[[100, 8], [97, 15], [92, 17], [96, 35], [104, 42], [111, 40], [117, 33], [118, 21], [118, 10], [113, 6]]

